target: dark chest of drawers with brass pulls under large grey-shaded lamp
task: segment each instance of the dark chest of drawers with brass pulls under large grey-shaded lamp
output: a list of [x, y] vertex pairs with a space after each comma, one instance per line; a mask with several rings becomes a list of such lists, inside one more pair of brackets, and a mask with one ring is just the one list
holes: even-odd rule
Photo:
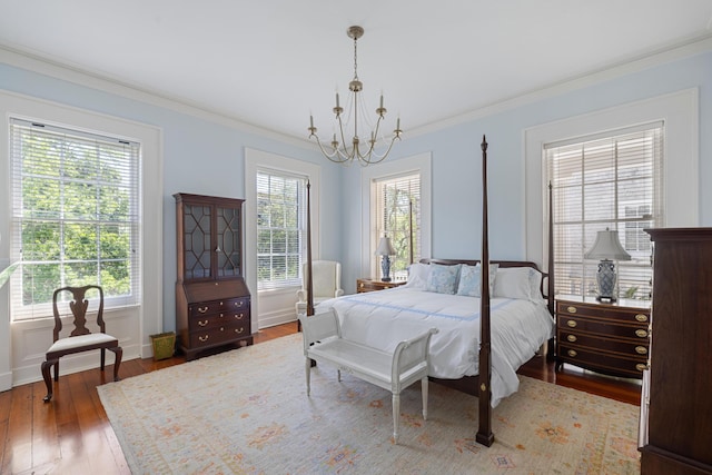
[[556, 369], [564, 363], [613, 376], [642, 378], [650, 350], [650, 301], [560, 296]]

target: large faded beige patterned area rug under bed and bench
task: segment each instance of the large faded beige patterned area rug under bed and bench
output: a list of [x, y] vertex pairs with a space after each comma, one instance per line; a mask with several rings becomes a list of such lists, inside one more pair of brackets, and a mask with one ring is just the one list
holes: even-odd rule
[[520, 377], [475, 442], [477, 399], [432, 383], [400, 402], [319, 365], [306, 395], [301, 334], [98, 388], [134, 474], [633, 474], [637, 407]]

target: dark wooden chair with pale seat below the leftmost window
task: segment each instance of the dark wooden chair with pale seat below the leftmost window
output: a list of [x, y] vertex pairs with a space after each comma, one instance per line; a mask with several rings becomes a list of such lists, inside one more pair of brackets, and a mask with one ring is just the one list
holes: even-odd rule
[[[99, 326], [100, 333], [95, 334], [89, 331], [86, 327], [89, 301], [85, 298], [85, 294], [89, 289], [99, 290], [97, 325]], [[62, 329], [62, 320], [57, 307], [57, 300], [58, 296], [63, 291], [70, 291], [72, 294], [72, 300], [69, 303], [69, 308], [75, 316], [75, 329], [68, 337], [60, 338], [59, 331]], [[113, 363], [113, 380], [119, 380], [119, 366], [121, 365], [123, 349], [119, 346], [119, 340], [117, 338], [111, 335], [107, 335], [106, 333], [106, 325], [103, 323], [103, 289], [96, 285], [59, 288], [55, 290], [55, 294], [52, 295], [52, 311], [55, 314], [55, 343], [47, 350], [46, 360], [42, 362], [42, 377], [47, 385], [47, 396], [44, 396], [44, 402], [49, 403], [52, 398], [52, 379], [50, 376], [50, 368], [55, 366], [55, 380], [59, 380], [59, 358], [65, 355], [100, 349], [101, 370], [103, 370], [106, 350], [108, 349], [113, 352], [116, 355], [116, 362]]]

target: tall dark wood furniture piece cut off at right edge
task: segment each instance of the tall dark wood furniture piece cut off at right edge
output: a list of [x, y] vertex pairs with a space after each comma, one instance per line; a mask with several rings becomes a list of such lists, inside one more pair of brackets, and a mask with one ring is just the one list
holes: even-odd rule
[[641, 472], [712, 474], [712, 228], [647, 232], [653, 306]]

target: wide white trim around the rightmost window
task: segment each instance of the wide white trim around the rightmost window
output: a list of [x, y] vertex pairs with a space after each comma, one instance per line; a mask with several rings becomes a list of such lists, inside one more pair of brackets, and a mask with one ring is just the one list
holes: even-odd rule
[[666, 159], [663, 175], [664, 188], [669, 192], [664, 197], [664, 226], [699, 226], [699, 182], [690, 182], [686, 178], [699, 176], [699, 89], [691, 88], [525, 129], [523, 151], [526, 185], [522, 206], [525, 210], [526, 232], [522, 239], [526, 246], [526, 258], [543, 265], [548, 257], [544, 239], [544, 230], [548, 224], [544, 144], [656, 120], [665, 122]]

